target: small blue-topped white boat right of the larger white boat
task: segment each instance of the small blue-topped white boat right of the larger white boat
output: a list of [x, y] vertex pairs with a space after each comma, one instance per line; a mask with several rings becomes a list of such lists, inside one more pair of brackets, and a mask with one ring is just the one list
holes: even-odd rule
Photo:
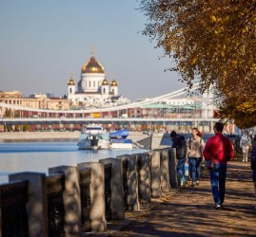
[[109, 133], [111, 140], [110, 149], [132, 149], [132, 140], [128, 139], [128, 129], [118, 130]]

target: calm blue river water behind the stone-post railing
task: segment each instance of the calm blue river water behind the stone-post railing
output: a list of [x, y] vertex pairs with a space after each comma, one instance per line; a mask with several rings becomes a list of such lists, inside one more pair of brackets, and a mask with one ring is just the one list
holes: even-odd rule
[[146, 150], [78, 150], [77, 141], [0, 142], [0, 183], [8, 182], [10, 173], [47, 173], [49, 167], [76, 166], [82, 162], [146, 152]]

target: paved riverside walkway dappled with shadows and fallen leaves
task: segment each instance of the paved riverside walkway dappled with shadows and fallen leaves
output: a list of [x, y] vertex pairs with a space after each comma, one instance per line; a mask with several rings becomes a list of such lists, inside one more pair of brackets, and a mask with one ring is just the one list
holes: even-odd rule
[[[231, 161], [222, 210], [213, 209], [208, 173], [200, 186], [164, 193], [95, 236], [256, 236], [256, 201], [250, 163]], [[92, 234], [94, 236], [94, 234]]]

